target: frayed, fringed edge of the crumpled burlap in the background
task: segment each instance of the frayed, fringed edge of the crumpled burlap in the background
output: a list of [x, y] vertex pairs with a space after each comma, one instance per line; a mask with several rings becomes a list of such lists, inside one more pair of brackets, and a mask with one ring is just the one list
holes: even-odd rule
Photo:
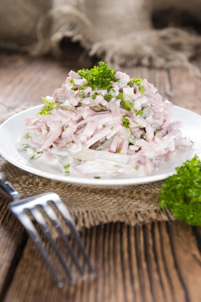
[[186, 66], [195, 74], [199, 69], [189, 59], [200, 54], [201, 37], [178, 28], [137, 30], [118, 38], [104, 39], [102, 32], [78, 9], [57, 6], [42, 16], [37, 24], [37, 42], [22, 45], [0, 41], [0, 46], [29, 52], [33, 56], [53, 53], [60, 58], [63, 38], [79, 41], [90, 56], [97, 55], [115, 68], [121, 66]]

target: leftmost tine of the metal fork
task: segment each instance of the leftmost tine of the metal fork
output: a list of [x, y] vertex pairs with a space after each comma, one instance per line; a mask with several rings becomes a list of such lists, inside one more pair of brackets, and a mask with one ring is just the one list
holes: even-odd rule
[[[12, 210], [12, 207], [10, 207]], [[13, 211], [13, 210], [12, 210]], [[15, 211], [13, 211], [14, 214], [16, 214]], [[32, 240], [34, 241], [35, 245], [37, 246], [37, 248], [39, 249], [39, 251], [41, 252], [46, 264], [48, 265], [51, 273], [53, 274], [58, 287], [63, 287], [63, 282], [60, 280], [60, 278], [58, 277], [56, 270], [54, 268], [54, 266], [52, 265], [52, 263], [50, 262], [49, 258], [48, 258], [48, 254], [45, 251], [42, 241], [40, 239], [40, 236], [38, 234], [38, 232], [36, 231], [36, 228], [34, 226], [34, 224], [32, 223], [31, 219], [29, 218], [29, 216], [25, 213], [25, 212], [21, 212], [17, 214], [17, 217], [19, 218], [20, 222], [24, 225], [27, 233], [29, 234], [29, 236], [32, 238]]]

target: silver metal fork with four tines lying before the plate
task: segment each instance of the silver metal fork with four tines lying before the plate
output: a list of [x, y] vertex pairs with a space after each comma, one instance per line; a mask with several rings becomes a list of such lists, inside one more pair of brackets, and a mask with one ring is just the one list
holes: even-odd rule
[[70, 213], [67, 209], [67, 207], [64, 205], [62, 202], [61, 198], [55, 194], [55, 193], [43, 193], [43, 194], [37, 194], [34, 196], [26, 197], [24, 198], [22, 195], [20, 195], [14, 186], [12, 185], [11, 182], [6, 180], [6, 174], [5, 173], [0, 173], [0, 194], [2, 194], [4, 197], [7, 199], [11, 200], [12, 202], [9, 203], [9, 208], [11, 211], [18, 217], [20, 222], [24, 225], [27, 233], [29, 236], [32, 238], [34, 243], [36, 244], [37, 248], [41, 252], [46, 264], [48, 265], [50, 271], [52, 272], [58, 287], [63, 286], [63, 282], [61, 279], [58, 277], [56, 269], [52, 262], [49, 259], [49, 256], [44, 249], [44, 246], [42, 244], [41, 238], [32, 222], [30, 217], [27, 215], [26, 210], [29, 210], [35, 220], [40, 224], [41, 229], [43, 233], [46, 235], [48, 241], [52, 245], [56, 255], [58, 256], [58, 259], [60, 260], [60, 263], [62, 264], [66, 275], [68, 276], [70, 283], [75, 283], [75, 279], [72, 277], [71, 270], [70, 268], [66, 265], [65, 260], [63, 256], [61, 255], [55, 240], [53, 239], [53, 236], [48, 228], [48, 224], [43, 217], [42, 213], [40, 210], [37, 208], [38, 205], [42, 206], [43, 210], [45, 211], [46, 215], [49, 217], [51, 220], [53, 226], [56, 228], [60, 238], [63, 240], [64, 245], [68, 249], [73, 263], [75, 264], [79, 274], [82, 276], [84, 279], [86, 276], [84, 274], [84, 269], [80, 265], [78, 258], [76, 254], [73, 252], [73, 249], [68, 241], [67, 236], [65, 235], [61, 223], [58, 219], [57, 214], [55, 213], [54, 209], [51, 207], [49, 202], [53, 202], [59, 212], [61, 213], [62, 217], [64, 218], [66, 224], [68, 225], [71, 234], [73, 235], [74, 239], [76, 240], [80, 251], [82, 252], [84, 256], [85, 263], [88, 265], [89, 273], [93, 273], [95, 275], [95, 270], [92, 267], [89, 256], [85, 251], [84, 245], [81, 242], [81, 239], [79, 237], [79, 234], [77, 233], [77, 230], [75, 228], [75, 224], [72, 220], [72, 217], [70, 216]]

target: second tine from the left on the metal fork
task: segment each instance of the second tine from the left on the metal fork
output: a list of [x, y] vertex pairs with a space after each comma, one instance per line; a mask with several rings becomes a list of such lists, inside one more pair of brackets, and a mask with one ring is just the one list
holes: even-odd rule
[[54, 248], [54, 251], [55, 251], [56, 255], [58, 256], [60, 262], [62, 263], [62, 265], [64, 267], [64, 270], [66, 271], [67, 276], [70, 279], [70, 283], [73, 284], [74, 283], [74, 279], [72, 278], [72, 275], [70, 273], [70, 269], [66, 265], [66, 263], [65, 263], [62, 255], [61, 255], [61, 253], [59, 252], [59, 249], [58, 249], [58, 247], [56, 245], [56, 242], [53, 239], [53, 237], [52, 237], [52, 235], [51, 235], [51, 233], [49, 231], [48, 225], [47, 225], [47, 223], [46, 223], [43, 215], [41, 214], [41, 212], [39, 211], [39, 209], [37, 209], [36, 207], [30, 209], [30, 211], [31, 211], [32, 215], [34, 216], [34, 218], [36, 219], [36, 221], [40, 224], [43, 233], [47, 236], [50, 244]]

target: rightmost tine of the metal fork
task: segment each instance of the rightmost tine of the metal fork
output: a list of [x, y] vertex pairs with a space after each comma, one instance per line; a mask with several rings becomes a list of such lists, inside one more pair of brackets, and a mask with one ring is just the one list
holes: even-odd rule
[[[54, 200], [53, 200], [54, 201]], [[85, 247], [81, 241], [81, 238], [76, 230], [74, 221], [67, 209], [67, 207], [65, 206], [65, 204], [62, 202], [62, 200], [60, 199], [60, 197], [58, 196], [57, 201], [55, 202], [56, 207], [58, 208], [59, 212], [61, 213], [61, 215], [63, 216], [64, 220], [66, 221], [67, 225], [69, 226], [77, 244], [80, 247], [81, 252], [84, 255], [84, 259], [86, 260], [86, 263], [88, 264], [89, 267], [89, 271], [92, 272], [94, 275], [96, 275], [96, 271], [95, 269], [92, 267], [90, 260], [89, 260], [89, 256], [85, 250]]]

